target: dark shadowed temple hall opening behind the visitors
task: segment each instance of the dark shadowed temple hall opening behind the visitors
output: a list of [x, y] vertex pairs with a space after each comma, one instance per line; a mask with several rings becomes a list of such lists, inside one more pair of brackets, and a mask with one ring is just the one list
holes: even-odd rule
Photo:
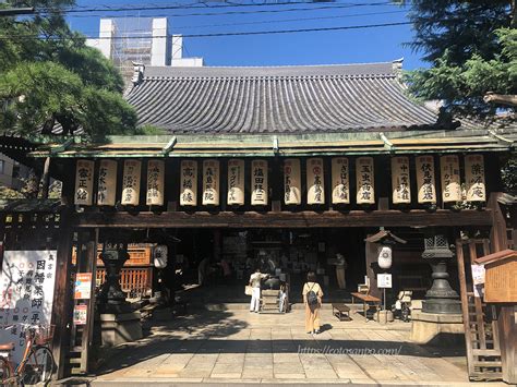
[[[364, 283], [366, 249], [364, 239], [376, 230], [366, 228], [310, 229], [178, 229], [176, 246], [176, 290], [192, 298], [191, 303], [239, 303], [255, 268], [287, 280], [290, 302], [301, 302], [308, 271], [314, 271], [325, 293], [325, 302], [349, 300], [349, 293]], [[430, 286], [430, 267], [421, 258], [420, 232], [394, 230], [409, 241], [394, 251], [393, 273], [399, 288], [423, 293]], [[345, 288], [336, 275], [336, 254], [346, 259]], [[202, 286], [200, 283], [202, 273]], [[396, 275], [395, 275], [396, 274]], [[188, 291], [184, 291], [184, 290]]]

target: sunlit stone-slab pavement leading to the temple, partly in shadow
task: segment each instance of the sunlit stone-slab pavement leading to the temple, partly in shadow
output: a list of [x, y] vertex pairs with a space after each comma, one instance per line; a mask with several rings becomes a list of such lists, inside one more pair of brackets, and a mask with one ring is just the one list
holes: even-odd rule
[[468, 384], [461, 358], [458, 367], [408, 342], [410, 324], [352, 318], [323, 310], [324, 331], [315, 336], [304, 331], [303, 311], [203, 311], [154, 322], [147, 337], [111, 350], [91, 384]]

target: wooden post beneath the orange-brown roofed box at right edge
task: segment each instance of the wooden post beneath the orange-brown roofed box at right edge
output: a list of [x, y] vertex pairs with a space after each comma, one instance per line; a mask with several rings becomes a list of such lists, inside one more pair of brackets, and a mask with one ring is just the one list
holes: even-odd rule
[[517, 306], [504, 304], [497, 316], [503, 380], [517, 385]]

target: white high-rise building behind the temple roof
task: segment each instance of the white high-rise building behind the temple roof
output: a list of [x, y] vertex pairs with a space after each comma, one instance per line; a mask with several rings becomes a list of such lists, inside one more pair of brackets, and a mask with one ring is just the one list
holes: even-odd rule
[[86, 44], [98, 48], [121, 70], [133, 73], [133, 62], [153, 66], [202, 66], [203, 58], [183, 58], [183, 38], [169, 33], [167, 17], [101, 19], [99, 37]]

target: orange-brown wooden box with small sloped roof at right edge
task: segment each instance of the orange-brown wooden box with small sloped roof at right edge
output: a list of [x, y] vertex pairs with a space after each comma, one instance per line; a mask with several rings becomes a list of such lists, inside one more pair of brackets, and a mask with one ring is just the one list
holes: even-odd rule
[[504, 250], [474, 259], [484, 265], [484, 302], [517, 303], [517, 252]]

